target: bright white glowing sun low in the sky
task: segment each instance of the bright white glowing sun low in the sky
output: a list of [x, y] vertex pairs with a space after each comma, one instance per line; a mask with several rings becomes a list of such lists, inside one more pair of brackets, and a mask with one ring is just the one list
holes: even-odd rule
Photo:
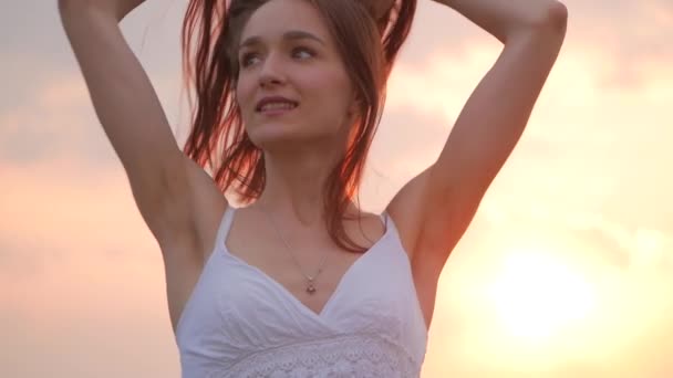
[[540, 344], [593, 312], [596, 294], [582, 274], [543, 251], [509, 254], [490, 285], [496, 321], [520, 342]]

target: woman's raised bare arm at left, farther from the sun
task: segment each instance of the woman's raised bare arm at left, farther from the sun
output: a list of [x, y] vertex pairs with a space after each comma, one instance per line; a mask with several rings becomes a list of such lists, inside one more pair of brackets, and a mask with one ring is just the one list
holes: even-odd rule
[[185, 238], [183, 231], [193, 231], [195, 196], [189, 176], [195, 167], [179, 149], [149, 78], [118, 27], [142, 2], [59, 0], [59, 11], [138, 210], [166, 246]]

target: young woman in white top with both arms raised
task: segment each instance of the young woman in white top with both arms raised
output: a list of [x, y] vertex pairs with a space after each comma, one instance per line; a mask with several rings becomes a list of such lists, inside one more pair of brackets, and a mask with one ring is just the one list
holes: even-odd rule
[[524, 132], [567, 20], [556, 0], [436, 1], [504, 50], [437, 160], [380, 216], [354, 197], [415, 0], [190, 0], [184, 149], [120, 32], [143, 1], [59, 1], [163, 253], [184, 377], [420, 375], [439, 273]]

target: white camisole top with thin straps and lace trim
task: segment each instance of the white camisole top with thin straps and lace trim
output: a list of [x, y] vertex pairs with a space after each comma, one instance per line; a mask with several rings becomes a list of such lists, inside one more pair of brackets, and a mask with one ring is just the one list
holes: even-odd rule
[[418, 377], [427, 332], [393, 220], [320, 314], [227, 251], [236, 209], [176, 327], [184, 378]]

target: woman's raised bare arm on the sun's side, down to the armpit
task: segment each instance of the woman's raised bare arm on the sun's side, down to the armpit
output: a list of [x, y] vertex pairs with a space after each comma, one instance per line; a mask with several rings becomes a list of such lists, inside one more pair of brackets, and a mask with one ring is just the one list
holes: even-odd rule
[[568, 15], [556, 0], [433, 1], [504, 43], [435, 164], [404, 186], [387, 208], [420, 264], [415, 269], [438, 276], [528, 123], [563, 43]]

